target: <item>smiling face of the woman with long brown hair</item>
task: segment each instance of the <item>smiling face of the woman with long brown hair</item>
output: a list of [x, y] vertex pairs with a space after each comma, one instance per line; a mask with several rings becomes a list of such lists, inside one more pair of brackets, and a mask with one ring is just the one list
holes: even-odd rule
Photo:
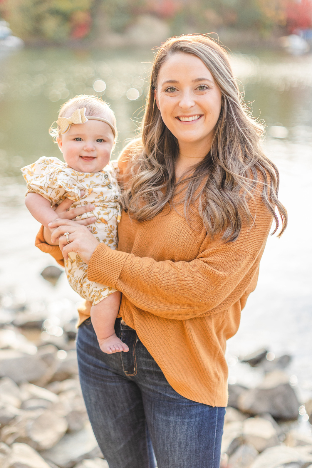
[[180, 148], [183, 143], [211, 144], [221, 91], [201, 59], [180, 52], [170, 56], [160, 68], [155, 99]]

